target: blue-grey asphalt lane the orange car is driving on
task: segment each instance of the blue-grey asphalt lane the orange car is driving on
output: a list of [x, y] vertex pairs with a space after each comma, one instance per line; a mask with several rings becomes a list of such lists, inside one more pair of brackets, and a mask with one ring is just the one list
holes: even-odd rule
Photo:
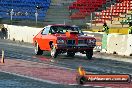
[[[81, 65], [86, 69], [87, 72], [99, 73], [99, 74], [107, 74], [107, 73], [132, 74], [131, 57], [124, 58], [119, 56], [111, 56], [107, 54], [94, 53], [93, 60], [87, 60], [87, 58], [84, 55], [77, 55], [74, 58], [67, 57], [66, 55], [60, 55], [58, 58], [54, 60], [54, 62], [51, 62], [49, 61], [51, 57], [48, 52], [44, 52], [42, 56], [36, 56], [34, 54], [34, 47], [32, 46], [32, 44], [29, 44], [29, 43], [19, 43], [19, 42], [13, 42], [10, 40], [0, 40], [0, 50], [1, 49], [5, 50], [5, 57], [7, 58], [16, 58], [16, 59], [34, 61], [34, 62], [39, 62], [44, 64], [45, 63], [52, 64], [55, 66], [65, 67], [72, 70], [76, 70], [77, 67]], [[107, 58], [110, 58], [110, 59], [107, 59]], [[114, 60], [115, 58], [126, 59], [126, 62]], [[0, 80], [0, 83], [1, 83], [1, 80]], [[46, 83], [44, 84], [49, 85]], [[53, 86], [54, 85], [52, 85], [52, 87]], [[52, 87], [47, 86], [46, 88], [52, 88]], [[10, 88], [10, 87], [5, 87], [5, 88]], [[19, 87], [19, 88], [24, 88], [24, 87]], [[40, 88], [44, 88], [44, 87], [40, 87]], [[61, 88], [61, 87], [56, 87], [56, 88]], [[66, 88], [70, 88], [70, 87], [68, 86]], [[72, 88], [74, 87], [72, 86]], [[75, 87], [75, 88], [78, 88], [78, 87]]]

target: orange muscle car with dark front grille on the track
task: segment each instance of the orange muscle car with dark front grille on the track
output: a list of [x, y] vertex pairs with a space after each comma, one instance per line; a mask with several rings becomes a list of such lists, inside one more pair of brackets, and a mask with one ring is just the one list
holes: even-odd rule
[[53, 58], [62, 53], [73, 57], [76, 52], [80, 52], [91, 59], [96, 39], [84, 35], [78, 27], [56, 24], [45, 26], [33, 38], [33, 45], [36, 55], [42, 55], [43, 51], [50, 51]]

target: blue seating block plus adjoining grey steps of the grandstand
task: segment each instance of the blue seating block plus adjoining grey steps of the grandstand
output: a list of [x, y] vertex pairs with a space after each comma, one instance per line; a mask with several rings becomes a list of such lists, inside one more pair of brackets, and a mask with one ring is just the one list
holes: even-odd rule
[[[68, 6], [75, 0], [1, 0], [1, 23], [15, 25], [35, 25], [35, 13], [38, 24], [42, 26], [55, 23], [69, 23]], [[36, 7], [39, 8], [36, 8]], [[11, 11], [13, 9], [12, 22]]]

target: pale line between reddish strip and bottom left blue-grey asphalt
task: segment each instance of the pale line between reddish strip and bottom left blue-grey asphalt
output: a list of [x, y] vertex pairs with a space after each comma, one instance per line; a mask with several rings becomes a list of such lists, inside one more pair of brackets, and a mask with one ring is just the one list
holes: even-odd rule
[[32, 80], [36, 80], [36, 81], [41, 81], [41, 82], [45, 82], [45, 83], [50, 83], [50, 84], [60, 84], [60, 83], [53, 82], [53, 81], [49, 81], [49, 80], [44, 80], [44, 79], [34, 78], [34, 77], [25, 76], [25, 75], [20, 75], [20, 74], [17, 74], [17, 73], [12, 73], [12, 72], [7, 72], [7, 71], [2, 71], [2, 70], [0, 70], [0, 72], [4, 72], [4, 73], [11, 74], [11, 75], [16, 75], [16, 76], [19, 76], [19, 77], [24, 77], [24, 78], [28, 78], [28, 79], [32, 79]]

